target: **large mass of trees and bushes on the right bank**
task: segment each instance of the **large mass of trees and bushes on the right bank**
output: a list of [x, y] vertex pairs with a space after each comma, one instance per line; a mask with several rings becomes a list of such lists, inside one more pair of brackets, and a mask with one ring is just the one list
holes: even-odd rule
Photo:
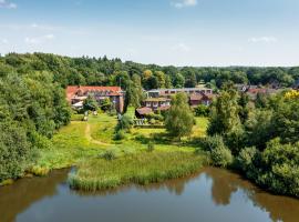
[[213, 104], [202, 147], [215, 165], [231, 167], [275, 193], [299, 196], [298, 109], [296, 90], [252, 103], [227, 84]]

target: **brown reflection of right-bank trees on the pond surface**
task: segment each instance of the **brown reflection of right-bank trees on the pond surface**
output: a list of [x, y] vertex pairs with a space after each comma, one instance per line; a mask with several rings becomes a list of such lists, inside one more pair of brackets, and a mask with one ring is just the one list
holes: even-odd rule
[[204, 172], [213, 180], [212, 194], [215, 204], [229, 204], [233, 193], [241, 190], [256, 206], [268, 212], [272, 221], [299, 221], [298, 200], [269, 194], [227, 170], [207, 168]]

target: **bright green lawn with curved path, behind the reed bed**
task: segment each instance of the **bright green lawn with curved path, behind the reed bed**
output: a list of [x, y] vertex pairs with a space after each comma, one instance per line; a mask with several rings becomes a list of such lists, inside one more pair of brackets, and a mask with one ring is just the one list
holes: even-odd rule
[[192, 138], [172, 141], [165, 129], [132, 129], [122, 141], [114, 141], [116, 118], [107, 114], [90, 117], [87, 122], [72, 121], [52, 139], [48, 149], [40, 150], [40, 157], [31, 169], [33, 174], [43, 174], [54, 169], [76, 165], [82, 159], [93, 159], [106, 150], [115, 150], [120, 155], [143, 153], [147, 142], [155, 143], [155, 151], [193, 152], [196, 145], [189, 141], [205, 135], [207, 120], [197, 118]]

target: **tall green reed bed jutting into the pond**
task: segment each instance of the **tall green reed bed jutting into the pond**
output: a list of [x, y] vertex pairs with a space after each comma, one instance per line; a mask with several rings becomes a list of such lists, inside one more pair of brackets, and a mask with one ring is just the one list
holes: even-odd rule
[[146, 152], [115, 160], [93, 159], [79, 164], [71, 174], [71, 188], [96, 191], [122, 184], [147, 184], [195, 173], [205, 163], [204, 155], [190, 152]]

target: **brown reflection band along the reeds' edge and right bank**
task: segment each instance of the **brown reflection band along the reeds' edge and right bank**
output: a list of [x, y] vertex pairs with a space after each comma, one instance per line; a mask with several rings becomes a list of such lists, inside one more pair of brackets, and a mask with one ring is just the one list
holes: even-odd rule
[[188, 178], [154, 183], [146, 186], [130, 185], [96, 193], [82, 191], [75, 191], [75, 193], [79, 195], [116, 195], [134, 186], [136, 190], [143, 192], [167, 189], [168, 192], [181, 195], [184, 193], [185, 185], [198, 179], [198, 176], [205, 176], [206, 180], [212, 181], [210, 198], [215, 205], [229, 205], [233, 194], [241, 191], [245, 194], [244, 198], [251, 200], [254, 205], [268, 212], [272, 221], [299, 221], [299, 200], [267, 193], [234, 172], [215, 168], [206, 168], [198, 174]]

